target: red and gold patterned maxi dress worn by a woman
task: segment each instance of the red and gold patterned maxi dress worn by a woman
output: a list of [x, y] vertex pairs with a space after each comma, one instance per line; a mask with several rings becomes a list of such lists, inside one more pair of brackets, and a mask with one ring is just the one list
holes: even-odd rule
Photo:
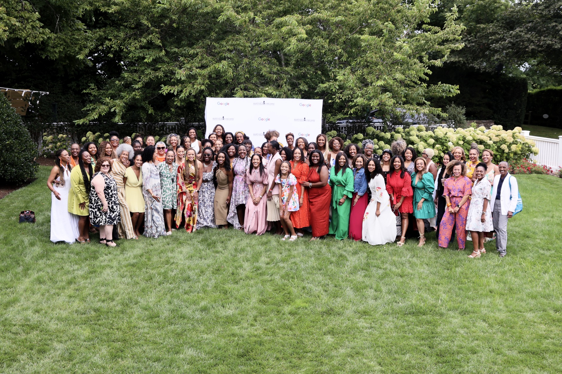
[[[197, 161], [197, 160], [195, 160]], [[189, 174], [185, 179], [185, 167], [189, 168]], [[188, 233], [197, 230], [197, 204], [193, 201], [193, 191], [195, 191], [195, 167], [188, 163], [183, 163], [178, 167], [178, 208], [176, 210], [176, 227], [182, 225], [182, 218], [185, 220], [185, 231]], [[187, 194], [192, 196], [191, 202], [187, 202]]]

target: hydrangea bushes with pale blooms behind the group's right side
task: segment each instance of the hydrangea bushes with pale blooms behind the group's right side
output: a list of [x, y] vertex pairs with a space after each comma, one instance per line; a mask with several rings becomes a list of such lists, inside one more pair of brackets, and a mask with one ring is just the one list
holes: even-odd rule
[[382, 132], [368, 127], [365, 134], [353, 135], [351, 141], [356, 141], [359, 137], [373, 139], [375, 152], [380, 155], [383, 149], [390, 148], [393, 141], [403, 138], [419, 153], [425, 148], [432, 148], [435, 151], [433, 161], [440, 160], [444, 152], [450, 151], [455, 146], [463, 147], [468, 154], [472, 142], [477, 143], [481, 151], [491, 149], [496, 164], [504, 160], [518, 163], [531, 153], [538, 154], [534, 141], [525, 139], [521, 135], [520, 127], [505, 131], [501, 126], [492, 126], [490, 130], [485, 130], [483, 126], [475, 128], [474, 124], [468, 128], [457, 129], [438, 126], [434, 131], [426, 131], [424, 126], [397, 128], [392, 132]]

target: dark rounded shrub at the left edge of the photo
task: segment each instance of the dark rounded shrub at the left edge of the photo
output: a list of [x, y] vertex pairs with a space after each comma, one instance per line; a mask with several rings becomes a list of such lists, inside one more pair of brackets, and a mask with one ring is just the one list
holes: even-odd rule
[[19, 183], [35, 177], [37, 144], [4, 95], [0, 95], [0, 138], [0, 178]]

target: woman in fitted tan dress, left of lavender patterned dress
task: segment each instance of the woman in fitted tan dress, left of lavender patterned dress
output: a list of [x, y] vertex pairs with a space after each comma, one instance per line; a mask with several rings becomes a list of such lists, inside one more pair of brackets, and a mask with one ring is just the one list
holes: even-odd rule
[[232, 196], [232, 180], [233, 173], [230, 168], [230, 159], [225, 151], [220, 151], [216, 155], [215, 167], [215, 225], [223, 225], [228, 228], [228, 204], [230, 204], [230, 197]]

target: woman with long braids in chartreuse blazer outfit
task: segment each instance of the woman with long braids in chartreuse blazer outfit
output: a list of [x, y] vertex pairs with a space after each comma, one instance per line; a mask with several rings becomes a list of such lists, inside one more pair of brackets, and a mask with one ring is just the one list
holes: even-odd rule
[[78, 167], [70, 172], [68, 211], [78, 216], [79, 243], [90, 242], [88, 205], [90, 204], [90, 179], [93, 174], [91, 160], [92, 156], [87, 150], [80, 150]]

